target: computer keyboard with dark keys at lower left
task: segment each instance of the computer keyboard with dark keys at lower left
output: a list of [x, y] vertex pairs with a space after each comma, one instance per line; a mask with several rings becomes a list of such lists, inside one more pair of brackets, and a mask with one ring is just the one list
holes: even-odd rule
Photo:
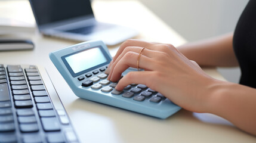
[[78, 142], [43, 68], [0, 64], [0, 142]]

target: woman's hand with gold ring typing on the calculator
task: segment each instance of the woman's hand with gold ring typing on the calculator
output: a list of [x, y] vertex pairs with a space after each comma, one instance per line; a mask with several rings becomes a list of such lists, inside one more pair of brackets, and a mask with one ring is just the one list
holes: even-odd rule
[[[137, 68], [141, 49], [138, 67], [144, 71], [131, 71], [119, 80], [128, 67]], [[214, 85], [220, 82], [206, 75], [195, 61], [187, 59], [170, 44], [134, 39], [122, 43], [106, 73], [112, 82], [119, 80], [116, 86], [118, 91], [131, 83], [141, 83], [175, 104], [196, 112], [206, 111], [209, 95]]]

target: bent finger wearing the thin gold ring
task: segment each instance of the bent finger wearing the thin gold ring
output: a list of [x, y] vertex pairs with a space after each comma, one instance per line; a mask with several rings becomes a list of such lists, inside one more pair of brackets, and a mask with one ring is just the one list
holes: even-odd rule
[[[116, 82], [119, 80], [121, 74], [128, 69], [128, 67], [137, 68], [137, 58], [138, 53], [127, 52], [127, 54], [125, 54], [124, 57], [122, 57], [114, 67], [112, 66], [112, 70], [110, 71], [107, 79], [112, 82]], [[154, 67], [153, 64], [150, 63], [152, 63], [151, 58], [141, 55], [138, 66], [141, 69], [152, 70]]]

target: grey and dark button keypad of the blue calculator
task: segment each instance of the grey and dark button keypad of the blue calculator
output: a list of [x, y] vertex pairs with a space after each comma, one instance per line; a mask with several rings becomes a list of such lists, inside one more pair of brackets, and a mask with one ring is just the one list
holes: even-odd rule
[[[82, 82], [82, 86], [89, 87], [94, 90], [100, 90], [102, 92], [111, 92], [112, 95], [121, 95], [124, 98], [132, 98], [134, 102], [144, 102], [149, 100], [150, 102], [159, 103], [164, 101], [166, 97], [164, 95], [148, 88], [143, 84], [132, 83], [124, 88], [124, 91], [117, 91], [115, 89], [118, 82], [110, 82], [107, 80], [107, 74], [103, 71], [106, 70], [104, 67], [99, 70], [94, 70], [92, 73], [87, 73], [85, 76], [78, 77], [78, 80]], [[92, 76], [95, 74], [95, 76]], [[85, 77], [85, 78], [84, 78]], [[86, 79], [87, 78], [87, 79]]]

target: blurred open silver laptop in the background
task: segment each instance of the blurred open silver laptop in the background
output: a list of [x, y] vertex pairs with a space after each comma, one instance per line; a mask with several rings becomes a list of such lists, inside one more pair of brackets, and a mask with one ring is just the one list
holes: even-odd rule
[[116, 45], [137, 30], [95, 20], [90, 0], [29, 0], [39, 32], [75, 41], [101, 40]]

